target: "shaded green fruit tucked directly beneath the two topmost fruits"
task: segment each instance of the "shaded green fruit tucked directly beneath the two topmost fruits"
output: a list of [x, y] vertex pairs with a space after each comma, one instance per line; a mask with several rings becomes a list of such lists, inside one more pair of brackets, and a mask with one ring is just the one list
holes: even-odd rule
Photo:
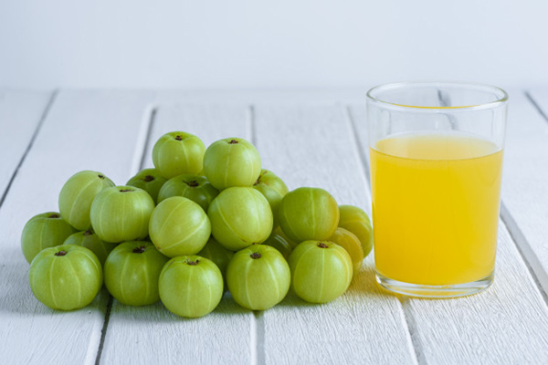
[[158, 203], [172, 196], [183, 196], [197, 203], [207, 212], [209, 203], [213, 202], [219, 191], [207, 181], [205, 176], [184, 173], [169, 179], [160, 190]]

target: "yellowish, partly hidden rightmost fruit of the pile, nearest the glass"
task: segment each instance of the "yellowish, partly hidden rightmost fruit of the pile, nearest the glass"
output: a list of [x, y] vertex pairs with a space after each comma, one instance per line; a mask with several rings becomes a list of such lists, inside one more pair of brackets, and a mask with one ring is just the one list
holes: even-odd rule
[[373, 228], [369, 216], [363, 209], [354, 205], [340, 205], [339, 211], [339, 226], [358, 237], [364, 249], [364, 257], [367, 257], [373, 248]]

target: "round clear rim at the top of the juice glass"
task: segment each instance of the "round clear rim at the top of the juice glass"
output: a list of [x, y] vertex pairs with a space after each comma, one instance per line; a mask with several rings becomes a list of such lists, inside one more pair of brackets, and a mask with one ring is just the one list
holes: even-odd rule
[[[375, 96], [375, 93], [386, 91], [386, 90], [395, 90], [395, 89], [406, 89], [407, 87], [419, 87], [419, 86], [429, 86], [429, 87], [442, 87], [442, 86], [448, 86], [448, 87], [460, 87], [460, 88], [476, 88], [476, 89], [483, 89], [486, 91], [492, 92], [497, 99], [493, 101], [489, 101], [486, 103], [481, 104], [475, 104], [475, 105], [462, 105], [457, 107], [424, 107], [419, 105], [404, 105], [404, 104], [397, 104], [394, 102], [383, 100], [382, 98], [378, 98]], [[482, 84], [479, 82], [466, 82], [466, 81], [402, 81], [402, 82], [391, 82], [387, 84], [381, 84], [377, 85], [374, 88], [371, 88], [367, 91], [367, 98], [374, 101], [375, 103], [380, 103], [382, 105], [385, 105], [387, 107], [390, 107], [392, 109], [399, 109], [399, 110], [421, 110], [421, 111], [437, 111], [437, 110], [483, 110], [483, 109], [493, 109], [497, 108], [500, 105], [505, 104], [509, 97], [508, 93], [504, 91], [501, 88], [498, 88], [496, 86], [491, 86], [489, 84]]]

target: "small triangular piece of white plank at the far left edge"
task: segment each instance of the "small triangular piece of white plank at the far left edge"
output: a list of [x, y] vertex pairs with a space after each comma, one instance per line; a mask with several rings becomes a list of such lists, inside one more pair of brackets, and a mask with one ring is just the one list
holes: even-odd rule
[[0, 90], [0, 196], [5, 192], [47, 110], [52, 93]]

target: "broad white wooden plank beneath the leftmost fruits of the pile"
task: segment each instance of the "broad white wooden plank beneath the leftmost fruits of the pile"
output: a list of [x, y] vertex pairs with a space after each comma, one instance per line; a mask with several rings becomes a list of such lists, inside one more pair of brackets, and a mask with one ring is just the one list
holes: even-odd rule
[[0, 353], [5, 364], [92, 364], [108, 295], [86, 308], [53, 311], [33, 297], [19, 237], [32, 215], [58, 209], [58, 192], [79, 170], [99, 170], [114, 182], [131, 174], [142, 92], [63, 91], [58, 94], [0, 210]]

